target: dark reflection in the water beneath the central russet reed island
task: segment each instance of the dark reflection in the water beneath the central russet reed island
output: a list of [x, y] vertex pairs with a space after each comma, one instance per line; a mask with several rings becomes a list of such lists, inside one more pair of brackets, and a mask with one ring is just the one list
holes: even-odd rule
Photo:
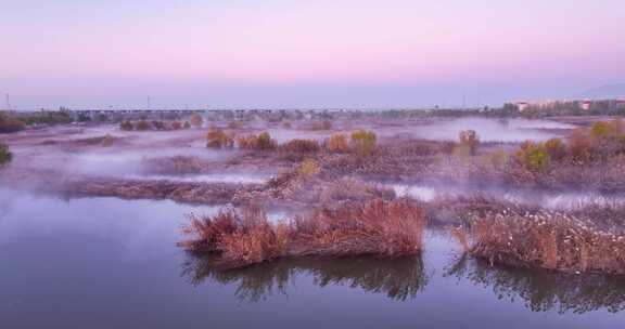
[[189, 254], [182, 274], [192, 285], [205, 281], [234, 285], [240, 301], [258, 302], [279, 293], [298, 276], [308, 276], [320, 287], [346, 286], [384, 294], [396, 301], [414, 299], [428, 285], [423, 260], [419, 256], [399, 259], [296, 259], [268, 262], [240, 269], [220, 271], [215, 259]]

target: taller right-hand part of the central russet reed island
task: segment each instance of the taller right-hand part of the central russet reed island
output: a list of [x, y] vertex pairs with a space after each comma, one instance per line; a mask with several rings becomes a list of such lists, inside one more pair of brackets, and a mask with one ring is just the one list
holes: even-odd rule
[[421, 251], [425, 215], [408, 200], [381, 199], [293, 222], [295, 254], [398, 256]]

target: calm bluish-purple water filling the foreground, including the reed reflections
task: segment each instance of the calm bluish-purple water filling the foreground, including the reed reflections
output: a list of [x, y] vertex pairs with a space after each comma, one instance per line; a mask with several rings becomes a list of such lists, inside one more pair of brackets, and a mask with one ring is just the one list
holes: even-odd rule
[[398, 260], [216, 272], [169, 201], [0, 189], [2, 328], [623, 328], [625, 281], [490, 268], [428, 234]]

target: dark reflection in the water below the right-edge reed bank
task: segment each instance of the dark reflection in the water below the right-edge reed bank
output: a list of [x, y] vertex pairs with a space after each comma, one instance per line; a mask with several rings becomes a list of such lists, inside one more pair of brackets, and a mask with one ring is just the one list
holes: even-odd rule
[[625, 278], [597, 274], [493, 267], [483, 260], [460, 258], [446, 272], [459, 280], [489, 288], [499, 300], [521, 299], [533, 312], [583, 314], [625, 310]]

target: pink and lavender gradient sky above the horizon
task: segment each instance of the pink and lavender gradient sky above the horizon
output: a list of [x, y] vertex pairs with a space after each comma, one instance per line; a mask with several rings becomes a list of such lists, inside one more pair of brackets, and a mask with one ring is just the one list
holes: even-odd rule
[[[0, 93], [40, 106], [412, 107], [625, 82], [623, 0], [0, 0]], [[3, 104], [2, 104], [3, 105]]]

